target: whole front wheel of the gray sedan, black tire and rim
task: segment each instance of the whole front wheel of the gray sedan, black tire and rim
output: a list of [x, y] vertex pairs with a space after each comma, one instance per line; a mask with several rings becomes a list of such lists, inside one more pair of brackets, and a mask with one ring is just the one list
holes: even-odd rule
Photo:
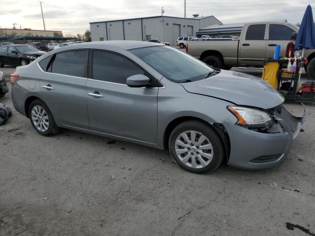
[[[185, 139], [183, 134], [184, 136], [186, 134]], [[199, 144], [199, 141], [202, 143]], [[201, 147], [204, 148], [201, 150]], [[198, 120], [185, 121], [175, 127], [169, 137], [168, 148], [179, 166], [198, 174], [215, 171], [225, 157], [224, 145], [219, 134], [210, 125]]]

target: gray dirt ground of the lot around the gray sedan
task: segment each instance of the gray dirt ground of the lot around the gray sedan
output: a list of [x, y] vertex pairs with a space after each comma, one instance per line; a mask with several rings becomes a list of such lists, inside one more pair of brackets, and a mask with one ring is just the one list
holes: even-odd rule
[[70, 130], [42, 137], [10, 93], [0, 102], [13, 110], [0, 126], [0, 236], [315, 235], [313, 104], [282, 166], [195, 175], [166, 151]]

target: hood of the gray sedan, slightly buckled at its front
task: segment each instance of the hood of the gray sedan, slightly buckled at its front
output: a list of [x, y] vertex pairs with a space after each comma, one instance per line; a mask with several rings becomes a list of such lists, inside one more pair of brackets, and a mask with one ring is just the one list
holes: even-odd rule
[[284, 102], [284, 96], [268, 83], [252, 75], [221, 70], [204, 80], [182, 83], [190, 93], [232, 102], [236, 105], [270, 109]]

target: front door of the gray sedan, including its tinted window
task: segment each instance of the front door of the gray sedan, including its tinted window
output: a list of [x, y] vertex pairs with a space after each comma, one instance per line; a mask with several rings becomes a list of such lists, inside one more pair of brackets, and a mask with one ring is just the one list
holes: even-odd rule
[[[90, 129], [147, 143], [157, 139], [158, 89], [130, 88], [127, 77], [146, 71], [121, 54], [94, 51], [86, 85]], [[155, 80], [155, 78], [152, 78]]]

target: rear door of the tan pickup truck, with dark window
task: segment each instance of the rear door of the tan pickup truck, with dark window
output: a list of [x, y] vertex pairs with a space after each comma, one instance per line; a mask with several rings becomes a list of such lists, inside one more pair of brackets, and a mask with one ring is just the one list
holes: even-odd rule
[[267, 24], [246, 25], [240, 42], [240, 65], [263, 66], [266, 54]]

